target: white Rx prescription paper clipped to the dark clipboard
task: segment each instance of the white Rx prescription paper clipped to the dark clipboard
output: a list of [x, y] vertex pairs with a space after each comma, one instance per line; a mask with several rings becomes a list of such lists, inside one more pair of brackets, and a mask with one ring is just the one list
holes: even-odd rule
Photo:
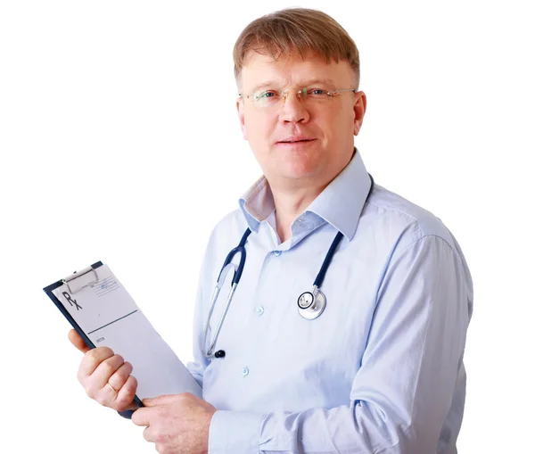
[[[192, 392], [202, 398], [202, 388], [152, 327], [136, 302], [103, 265], [80, 280], [96, 282], [77, 288], [77, 280], [53, 290], [78, 326], [96, 347], [110, 347], [132, 363], [140, 399], [162, 394]], [[71, 293], [73, 290], [75, 293]]]

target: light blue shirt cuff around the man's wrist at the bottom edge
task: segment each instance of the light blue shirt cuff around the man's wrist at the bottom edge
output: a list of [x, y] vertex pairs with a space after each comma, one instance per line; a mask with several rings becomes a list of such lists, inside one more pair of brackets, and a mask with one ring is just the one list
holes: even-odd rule
[[264, 415], [218, 410], [210, 423], [208, 453], [259, 453], [260, 424]]

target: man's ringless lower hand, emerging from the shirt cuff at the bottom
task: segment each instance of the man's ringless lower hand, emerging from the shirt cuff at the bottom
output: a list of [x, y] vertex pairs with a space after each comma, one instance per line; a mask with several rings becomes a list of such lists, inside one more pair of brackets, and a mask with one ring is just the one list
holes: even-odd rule
[[216, 409], [189, 392], [144, 399], [132, 416], [146, 425], [143, 436], [160, 454], [206, 454], [210, 422]]

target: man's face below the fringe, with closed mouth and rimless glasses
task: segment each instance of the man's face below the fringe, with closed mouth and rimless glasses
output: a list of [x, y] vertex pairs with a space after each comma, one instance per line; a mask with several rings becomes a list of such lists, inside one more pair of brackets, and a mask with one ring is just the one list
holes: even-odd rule
[[326, 102], [297, 95], [303, 87], [353, 88], [348, 62], [327, 64], [319, 57], [302, 60], [299, 55], [274, 62], [251, 52], [243, 66], [241, 86], [244, 95], [266, 90], [281, 93], [289, 88], [285, 101], [276, 106], [260, 107], [252, 97], [237, 102], [243, 138], [272, 186], [300, 186], [312, 180], [326, 185], [350, 161], [353, 136], [366, 111], [366, 95], [342, 92]]

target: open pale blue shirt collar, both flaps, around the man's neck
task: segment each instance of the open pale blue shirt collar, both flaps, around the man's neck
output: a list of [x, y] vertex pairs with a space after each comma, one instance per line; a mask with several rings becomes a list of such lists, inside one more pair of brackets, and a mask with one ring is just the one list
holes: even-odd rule
[[[351, 240], [371, 186], [360, 153], [356, 150], [350, 163], [310, 203], [305, 214], [315, 213]], [[240, 198], [240, 208], [252, 231], [275, 210], [273, 194], [266, 177], [259, 180]]]

